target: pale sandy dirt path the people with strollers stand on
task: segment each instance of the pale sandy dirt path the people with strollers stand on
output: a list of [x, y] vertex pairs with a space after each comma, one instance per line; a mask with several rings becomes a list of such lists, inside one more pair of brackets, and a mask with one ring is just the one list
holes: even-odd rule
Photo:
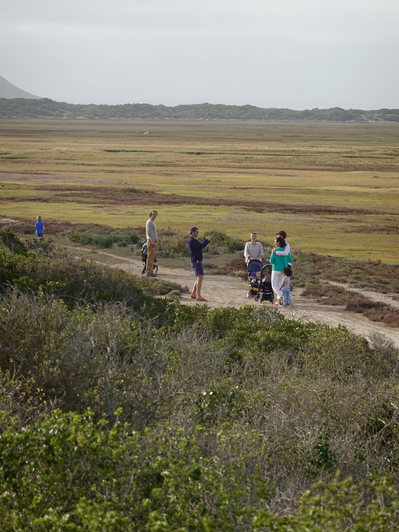
[[[69, 247], [69, 246], [66, 246]], [[71, 246], [72, 248], [72, 246]], [[74, 250], [77, 248], [74, 247]], [[82, 251], [89, 251], [82, 248]], [[103, 257], [103, 260], [101, 259]], [[92, 257], [94, 258], [94, 257]], [[107, 252], [97, 252], [96, 260], [98, 262], [107, 262], [108, 259], [112, 259], [113, 268], [121, 268], [122, 270], [131, 271], [136, 275], [141, 275], [142, 261], [135, 259], [121, 259], [117, 255]], [[115, 260], [118, 262], [115, 263]], [[190, 289], [194, 284], [194, 273], [190, 270], [177, 270], [173, 268], [159, 268], [158, 277], [161, 280], [176, 282], [182, 287], [187, 287], [188, 292], [184, 293], [180, 297], [180, 302], [184, 305], [204, 304], [198, 303], [195, 300], [190, 299]], [[354, 292], [362, 293], [363, 295], [376, 298], [379, 301], [385, 301], [390, 306], [399, 308], [399, 302], [393, 298], [394, 294], [378, 294], [375, 292], [366, 292], [364, 290], [353, 289], [349, 285], [343, 285], [339, 283], [332, 283], [344, 288], [350, 288]], [[269, 302], [258, 303], [254, 300], [248, 300], [248, 283], [242, 279], [235, 277], [227, 277], [223, 275], [206, 275], [203, 281], [202, 295], [207, 301], [207, 305], [211, 308], [219, 306], [232, 306], [239, 308], [243, 305], [271, 305]], [[354, 314], [344, 310], [344, 306], [329, 306], [321, 305], [314, 300], [304, 298], [300, 296], [301, 289], [293, 290], [292, 298], [295, 308], [278, 308], [279, 312], [284, 314], [287, 318], [292, 318], [303, 323], [307, 322], [319, 322], [326, 323], [332, 327], [338, 325], [345, 326], [348, 330], [355, 334], [369, 338], [376, 333], [383, 335], [386, 339], [391, 340], [392, 343], [399, 348], [399, 329], [388, 328], [380, 325], [377, 322], [369, 321], [361, 314]]]

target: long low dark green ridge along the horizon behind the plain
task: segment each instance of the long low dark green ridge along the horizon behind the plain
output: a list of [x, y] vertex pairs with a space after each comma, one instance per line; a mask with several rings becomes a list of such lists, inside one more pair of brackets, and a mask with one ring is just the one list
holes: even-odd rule
[[[1, 79], [6, 81], [4, 78]], [[0, 96], [2, 94], [0, 87]], [[13, 98], [0, 97], [0, 118], [399, 122], [399, 109], [364, 111], [333, 107], [332, 109], [316, 108], [294, 111], [291, 109], [264, 109], [253, 105], [211, 103], [176, 105], [174, 107], [144, 103], [83, 105], [55, 102], [48, 98], [32, 98], [37, 97], [32, 95]]]

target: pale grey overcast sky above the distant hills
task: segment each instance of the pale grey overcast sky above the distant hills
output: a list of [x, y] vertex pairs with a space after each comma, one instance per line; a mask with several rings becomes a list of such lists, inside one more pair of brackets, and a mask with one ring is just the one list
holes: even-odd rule
[[0, 0], [0, 75], [81, 104], [399, 107], [399, 0]]

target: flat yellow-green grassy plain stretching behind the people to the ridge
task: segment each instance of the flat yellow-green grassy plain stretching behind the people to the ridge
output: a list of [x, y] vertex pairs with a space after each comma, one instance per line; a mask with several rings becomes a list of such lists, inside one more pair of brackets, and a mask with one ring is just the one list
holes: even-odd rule
[[0, 121], [0, 215], [399, 262], [399, 124]]

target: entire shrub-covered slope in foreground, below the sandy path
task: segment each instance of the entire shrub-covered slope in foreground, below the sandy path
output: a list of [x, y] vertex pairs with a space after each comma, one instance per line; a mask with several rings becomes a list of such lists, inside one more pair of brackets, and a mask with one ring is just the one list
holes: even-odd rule
[[399, 353], [0, 247], [0, 515], [27, 530], [399, 528]]

